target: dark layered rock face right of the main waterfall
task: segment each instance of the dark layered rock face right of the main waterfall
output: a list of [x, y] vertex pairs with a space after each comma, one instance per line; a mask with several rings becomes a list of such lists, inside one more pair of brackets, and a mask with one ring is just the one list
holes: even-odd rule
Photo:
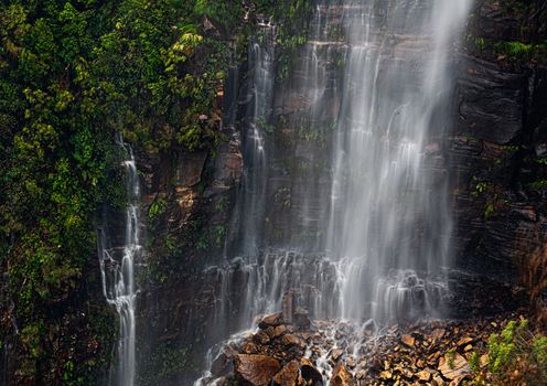
[[514, 265], [547, 233], [547, 63], [500, 49], [545, 40], [546, 14], [545, 2], [479, 1], [460, 50], [455, 126], [446, 157], [454, 246], [471, 271], [490, 260], [515, 278]]

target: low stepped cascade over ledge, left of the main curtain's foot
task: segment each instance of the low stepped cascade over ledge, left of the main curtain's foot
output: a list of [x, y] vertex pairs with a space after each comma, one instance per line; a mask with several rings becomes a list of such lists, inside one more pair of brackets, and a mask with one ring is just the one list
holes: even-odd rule
[[257, 315], [281, 310], [283, 297], [293, 296], [313, 319], [332, 318], [340, 312], [339, 267], [324, 256], [294, 251], [259, 254], [251, 260], [234, 259], [208, 269], [217, 282], [216, 320], [232, 319], [232, 331], [253, 326]]

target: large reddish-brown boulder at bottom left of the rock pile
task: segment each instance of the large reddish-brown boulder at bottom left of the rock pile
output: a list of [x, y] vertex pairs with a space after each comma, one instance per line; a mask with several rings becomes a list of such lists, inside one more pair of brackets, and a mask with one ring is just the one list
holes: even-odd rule
[[236, 377], [253, 386], [268, 386], [280, 368], [279, 361], [266, 355], [237, 354], [234, 357]]

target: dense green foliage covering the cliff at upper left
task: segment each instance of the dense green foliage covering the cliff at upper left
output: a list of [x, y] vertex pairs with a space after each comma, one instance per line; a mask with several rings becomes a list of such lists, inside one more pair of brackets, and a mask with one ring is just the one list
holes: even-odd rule
[[[303, 35], [289, 31], [307, 4], [259, 0], [254, 9], [291, 20], [279, 40], [293, 47]], [[228, 42], [245, 44], [254, 28], [245, 11], [236, 0], [0, 4], [0, 265], [10, 298], [0, 300], [14, 304], [20, 383], [92, 385], [108, 365], [115, 328], [100, 303], [94, 218], [125, 202], [116, 133], [149, 153], [213, 149]], [[154, 202], [152, 223], [165, 206]], [[226, 229], [213, 230], [218, 244]], [[172, 237], [164, 244], [176, 248]], [[93, 321], [81, 339], [105, 361], [55, 353], [81, 310]]]

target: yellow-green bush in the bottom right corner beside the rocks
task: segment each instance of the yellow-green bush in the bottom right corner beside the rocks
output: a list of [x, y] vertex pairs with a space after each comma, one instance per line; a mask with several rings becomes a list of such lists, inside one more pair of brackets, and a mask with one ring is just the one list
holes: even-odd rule
[[482, 366], [479, 353], [470, 360], [473, 385], [547, 384], [547, 336], [533, 333], [526, 320], [511, 321], [492, 334], [485, 354]]

